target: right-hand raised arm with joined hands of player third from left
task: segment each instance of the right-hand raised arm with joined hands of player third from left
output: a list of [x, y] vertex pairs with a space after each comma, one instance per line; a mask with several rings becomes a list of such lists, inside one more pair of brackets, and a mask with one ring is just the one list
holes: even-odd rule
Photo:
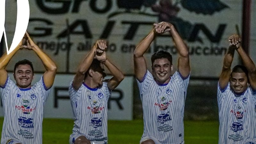
[[186, 44], [183, 42], [182, 38], [174, 28], [171, 23], [168, 22], [160, 22], [156, 25], [156, 32], [157, 33], [165, 33], [167, 31], [170, 32], [174, 43], [176, 44], [176, 48], [180, 54], [178, 60], [178, 70], [182, 77], [187, 77], [190, 72], [189, 66], [189, 55], [188, 55], [188, 48]]

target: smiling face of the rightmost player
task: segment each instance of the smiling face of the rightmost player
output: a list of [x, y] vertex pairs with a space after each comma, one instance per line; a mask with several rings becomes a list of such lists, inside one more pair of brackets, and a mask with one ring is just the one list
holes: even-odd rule
[[245, 73], [232, 73], [230, 85], [234, 92], [242, 93], [246, 90], [248, 79]]

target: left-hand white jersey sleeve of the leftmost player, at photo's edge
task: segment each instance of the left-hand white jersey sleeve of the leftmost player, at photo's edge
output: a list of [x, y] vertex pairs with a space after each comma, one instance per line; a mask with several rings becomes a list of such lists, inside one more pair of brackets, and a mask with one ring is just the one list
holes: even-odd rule
[[4, 97], [7, 97], [10, 90], [14, 89], [15, 87], [18, 89], [16, 84], [14, 84], [14, 82], [10, 79], [10, 77], [8, 75], [6, 82], [4, 84], [4, 87], [0, 86], [0, 94], [1, 94], [2, 100], [4, 100]]

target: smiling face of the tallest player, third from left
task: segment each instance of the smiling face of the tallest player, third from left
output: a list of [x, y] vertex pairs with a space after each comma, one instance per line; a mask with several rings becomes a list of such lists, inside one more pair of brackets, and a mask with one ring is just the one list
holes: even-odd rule
[[170, 81], [172, 72], [171, 62], [164, 59], [156, 59], [152, 66], [153, 75], [156, 78], [156, 82], [159, 84], [167, 84]]

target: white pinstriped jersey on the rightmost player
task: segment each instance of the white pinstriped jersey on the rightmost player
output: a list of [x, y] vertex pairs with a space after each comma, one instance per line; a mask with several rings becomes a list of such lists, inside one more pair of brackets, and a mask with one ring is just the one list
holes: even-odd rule
[[251, 140], [252, 98], [251, 86], [238, 95], [230, 88], [230, 83], [223, 90], [218, 84], [219, 144], [244, 144]]

